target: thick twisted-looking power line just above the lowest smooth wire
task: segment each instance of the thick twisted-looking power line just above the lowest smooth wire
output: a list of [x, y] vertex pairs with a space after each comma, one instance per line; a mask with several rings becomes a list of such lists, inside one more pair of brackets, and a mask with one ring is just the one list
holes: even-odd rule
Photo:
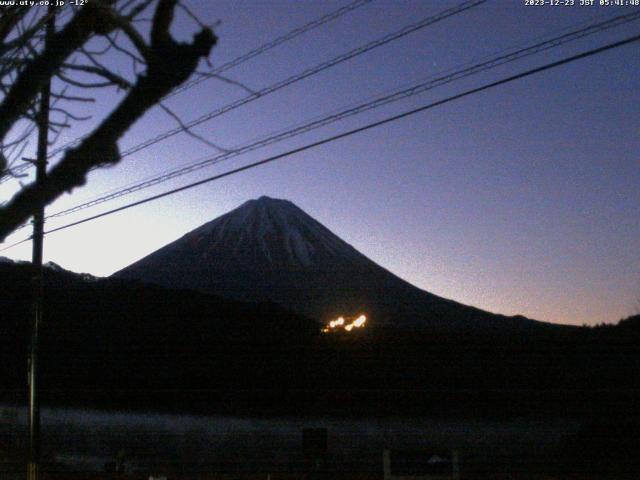
[[368, 110], [372, 110], [375, 108], [379, 108], [383, 105], [387, 105], [389, 103], [392, 102], [396, 102], [399, 101], [401, 99], [410, 97], [410, 96], [414, 96], [420, 93], [424, 93], [425, 91], [431, 90], [433, 88], [451, 83], [453, 81], [456, 80], [460, 80], [462, 78], [466, 78], [469, 77], [471, 75], [475, 75], [478, 74], [480, 72], [513, 62], [515, 60], [519, 60], [521, 58], [530, 56], [530, 55], [534, 55], [537, 54], [541, 51], [546, 51], [549, 50], [551, 48], [555, 48], [558, 47], [559, 45], [565, 44], [567, 42], [570, 41], [574, 41], [580, 38], [584, 38], [585, 36], [609, 29], [609, 28], [613, 28], [616, 26], [619, 26], [623, 23], [626, 22], [630, 22], [632, 20], [637, 20], [640, 18], [640, 12], [636, 12], [633, 14], [627, 14], [627, 15], [620, 15], [617, 17], [614, 17], [612, 19], [608, 19], [602, 22], [599, 22], [597, 24], [594, 25], [589, 25], [585, 28], [573, 31], [573, 32], [569, 32], [566, 33], [564, 35], [561, 35], [559, 37], [555, 37], [546, 41], [542, 41], [539, 42], [535, 45], [532, 46], [528, 46], [525, 48], [521, 48], [519, 50], [516, 50], [514, 52], [511, 53], [506, 53], [503, 55], [499, 55], [497, 57], [491, 58], [487, 61], [472, 65], [470, 67], [461, 69], [461, 70], [457, 70], [454, 71], [448, 75], [443, 75], [443, 76], [439, 76], [436, 78], [431, 78], [426, 82], [421, 82], [417, 85], [413, 85], [409, 88], [405, 88], [399, 91], [395, 91], [389, 95], [385, 95], [379, 98], [376, 98], [372, 101], [368, 101], [359, 105], [356, 105], [354, 107], [348, 108], [346, 110], [342, 110], [338, 113], [335, 114], [331, 114], [328, 116], [324, 116], [321, 117], [319, 119], [313, 120], [311, 122], [307, 122], [304, 123], [302, 125], [299, 125], [297, 127], [294, 127], [292, 129], [289, 130], [285, 130], [283, 132], [279, 132], [276, 134], [273, 134], [271, 136], [267, 136], [265, 138], [261, 138], [258, 139], [255, 142], [251, 142], [248, 144], [245, 144], [243, 146], [240, 146], [234, 150], [231, 150], [230, 152], [225, 152], [219, 155], [216, 155], [214, 157], [208, 157], [205, 158], [203, 160], [197, 161], [195, 163], [192, 163], [190, 165], [186, 165], [184, 167], [180, 167], [177, 169], [173, 169], [170, 170], [169, 172], [166, 172], [164, 174], [161, 175], [156, 175], [153, 177], [148, 177], [145, 180], [139, 181], [138, 183], [133, 183], [130, 184], [126, 187], [120, 188], [118, 190], [112, 191], [110, 193], [107, 193], [105, 195], [99, 196], [97, 198], [94, 198], [92, 200], [89, 200], [87, 202], [81, 203], [79, 205], [75, 205], [73, 207], [67, 208], [65, 210], [61, 210], [59, 212], [56, 212], [52, 215], [50, 215], [48, 218], [53, 218], [53, 217], [61, 217], [61, 216], [65, 216], [65, 215], [69, 215], [71, 213], [77, 212], [79, 210], [84, 210], [86, 208], [90, 208], [93, 207], [95, 205], [110, 201], [110, 200], [114, 200], [116, 198], [122, 197], [124, 195], [128, 195], [130, 193], [134, 193], [136, 191], [145, 189], [145, 188], [149, 188], [152, 187], [154, 185], [158, 185], [160, 183], [163, 183], [165, 181], [171, 180], [173, 178], [185, 175], [187, 173], [191, 173], [194, 172], [196, 170], [205, 168], [207, 166], [210, 166], [212, 164], [216, 164], [219, 162], [222, 162], [224, 160], [228, 160], [230, 158], [233, 157], [237, 157], [239, 155], [257, 150], [259, 148], [263, 148], [265, 146], [268, 145], [272, 145], [274, 143], [292, 138], [294, 136], [298, 136], [301, 135], [303, 133], [307, 133], [311, 130], [315, 130], [318, 129], [320, 127], [329, 125], [331, 123], [334, 123], [338, 120], [342, 120], [354, 115], [357, 115], [359, 113], [368, 111]]

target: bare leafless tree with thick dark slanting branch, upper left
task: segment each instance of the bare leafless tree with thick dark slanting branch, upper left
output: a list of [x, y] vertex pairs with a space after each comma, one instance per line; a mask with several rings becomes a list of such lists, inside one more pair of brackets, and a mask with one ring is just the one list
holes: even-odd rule
[[[199, 24], [189, 43], [176, 41], [170, 33], [177, 7]], [[0, 206], [0, 241], [27, 221], [38, 205], [84, 185], [90, 170], [118, 163], [118, 140], [150, 108], [160, 105], [175, 117], [161, 99], [196, 71], [217, 41], [212, 29], [179, 0], [92, 0], [73, 12], [46, 44], [45, 25], [54, 13], [34, 13], [24, 6], [5, 7], [2, 12], [0, 179], [19, 175], [18, 160], [35, 129], [38, 96], [50, 79], [56, 79], [58, 86], [52, 92], [54, 140], [73, 122], [87, 118], [74, 114], [69, 105], [93, 102], [93, 92], [102, 88], [115, 87], [124, 95], [95, 128], [62, 153], [41, 184], [22, 186]], [[144, 18], [147, 14], [149, 18]], [[96, 47], [100, 43], [96, 39], [102, 47]], [[109, 55], [130, 61], [130, 74], [109, 68], [105, 61]]]

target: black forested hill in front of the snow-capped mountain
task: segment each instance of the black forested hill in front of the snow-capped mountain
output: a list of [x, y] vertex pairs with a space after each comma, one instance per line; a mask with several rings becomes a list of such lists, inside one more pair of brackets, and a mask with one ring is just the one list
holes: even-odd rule
[[[24, 401], [27, 264], [0, 264], [0, 401]], [[636, 413], [640, 318], [323, 334], [272, 304], [46, 270], [42, 401], [234, 414]]]

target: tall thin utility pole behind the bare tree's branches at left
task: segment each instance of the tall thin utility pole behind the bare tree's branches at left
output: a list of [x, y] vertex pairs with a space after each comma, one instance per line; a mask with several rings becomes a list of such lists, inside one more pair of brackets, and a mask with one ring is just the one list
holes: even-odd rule
[[[53, 3], [53, 2], [51, 2]], [[55, 35], [55, 7], [49, 5], [49, 19], [45, 32], [45, 48], [51, 44]], [[47, 174], [47, 147], [49, 142], [49, 103], [51, 100], [51, 80], [42, 87], [40, 106], [38, 109], [38, 153], [36, 164], [36, 185], [42, 186]], [[31, 346], [29, 349], [29, 458], [27, 480], [38, 480], [40, 463], [40, 398], [38, 396], [38, 349], [39, 334], [42, 323], [43, 282], [42, 282], [42, 250], [44, 237], [44, 202], [38, 206], [33, 215], [33, 250], [31, 256], [33, 274], [32, 282], [32, 324]]]

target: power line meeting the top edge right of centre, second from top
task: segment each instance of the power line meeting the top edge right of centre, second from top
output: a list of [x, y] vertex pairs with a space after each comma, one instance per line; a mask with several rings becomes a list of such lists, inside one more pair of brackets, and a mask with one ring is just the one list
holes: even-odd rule
[[368, 42], [358, 48], [355, 48], [353, 50], [350, 50], [346, 53], [343, 53], [341, 55], [338, 55], [337, 57], [332, 58], [331, 60], [327, 60], [325, 62], [322, 62], [314, 67], [308, 68], [296, 75], [290, 76], [284, 80], [281, 80], [279, 82], [276, 82], [272, 85], [269, 85], [268, 87], [265, 87], [261, 90], [258, 90], [255, 93], [252, 93], [250, 95], [247, 95], [246, 97], [243, 97], [239, 100], [236, 100], [235, 102], [229, 103], [223, 107], [217, 108], [205, 115], [202, 115], [199, 118], [196, 118], [195, 120], [192, 120], [188, 123], [185, 123], [184, 125], [181, 125], [179, 127], [173, 128], [171, 130], [167, 130], [164, 133], [161, 133], [160, 135], [157, 135], [153, 138], [150, 138], [144, 142], [141, 142], [127, 150], [124, 150], [123, 152], [121, 152], [120, 157], [124, 158], [127, 157], [133, 153], [137, 153], [145, 148], [150, 147], [151, 145], [154, 145], [158, 142], [161, 142], [163, 140], [166, 140], [169, 137], [172, 137], [180, 132], [183, 132], [188, 128], [192, 128], [195, 127], [197, 125], [200, 125], [204, 122], [207, 122], [209, 120], [212, 120], [216, 117], [219, 117], [227, 112], [230, 112], [232, 110], [235, 110], [243, 105], [246, 105], [250, 102], [253, 102], [259, 98], [262, 98], [266, 95], [272, 94], [274, 92], [277, 92], [278, 90], [281, 90], [285, 87], [288, 87], [294, 83], [297, 83], [301, 80], [304, 80], [306, 78], [309, 78], [313, 75], [316, 75], [324, 70], [327, 70], [331, 67], [334, 67], [335, 65], [338, 65], [340, 63], [346, 62], [347, 60], [351, 60], [352, 58], [355, 58], [359, 55], [362, 55], [370, 50], [373, 50], [375, 48], [379, 48], [383, 45], [386, 45], [387, 43], [390, 43], [394, 40], [397, 40], [399, 38], [405, 37], [407, 35], [409, 35], [410, 33], [416, 32], [422, 28], [425, 28], [429, 25], [433, 25], [434, 23], [437, 23], [441, 20], [444, 20], [446, 18], [449, 18], [451, 16], [457, 15], [459, 13], [462, 13], [466, 10], [469, 10], [471, 8], [477, 7], [485, 2], [487, 2], [488, 0], [467, 0], [465, 2], [462, 2], [461, 4], [455, 6], [455, 7], [451, 7], [448, 8], [446, 10], [443, 10], [442, 12], [430, 16], [430, 17], [426, 17], [422, 20], [420, 20], [419, 22], [413, 23], [411, 25], [405, 26], [402, 29], [387, 34], [377, 40], [373, 40], [371, 42]]

